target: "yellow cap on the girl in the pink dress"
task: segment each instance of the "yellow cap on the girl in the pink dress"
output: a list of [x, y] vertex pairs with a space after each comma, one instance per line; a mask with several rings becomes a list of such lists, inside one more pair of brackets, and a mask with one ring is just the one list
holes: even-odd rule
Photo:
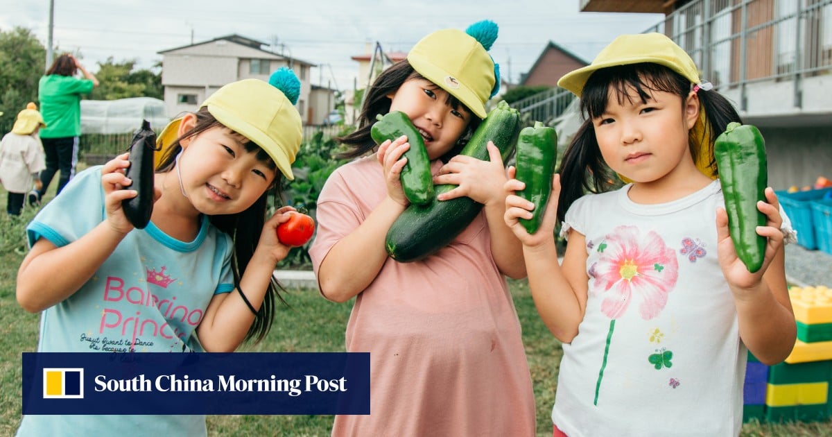
[[[496, 25], [493, 32], [496, 38]], [[438, 30], [410, 49], [408, 62], [416, 72], [457, 97], [477, 117], [488, 115], [485, 102], [491, 98], [497, 79], [494, 61], [475, 37], [458, 29]]]

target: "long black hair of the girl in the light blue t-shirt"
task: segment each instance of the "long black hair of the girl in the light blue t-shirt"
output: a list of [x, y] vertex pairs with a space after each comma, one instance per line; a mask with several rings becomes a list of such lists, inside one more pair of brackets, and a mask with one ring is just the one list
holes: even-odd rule
[[[206, 132], [213, 127], [221, 127], [227, 129], [225, 125], [218, 122], [214, 116], [208, 112], [206, 107], [202, 107], [196, 113], [196, 125], [191, 131], [186, 132], [176, 141], [171, 144], [165, 151], [162, 152], [159, 166], [156, 167], [156, 173], [165, 173], [173, 170], [176, 166], [176, 156], [182, 150], [180, 142], [186, 138], [194, 137], [200, 132]], [[233, 132], [233, 131], [232, 131]], [[234, 241], [234, 251], [231, 255], [231, 271], [234, 272], [235, 284], [240, 283], [245, 272], [245, 267], [249, 265], [251, 256], [255, 253], [257, 242], [260, 241], [260, 232], [263, 230], [266, 213], [268, 208], [269, 196], [272, 197], [273, 205], [279, 205], [280, 201], [280, 181], [283, 174], [277, 169], [275, 162], [272, 161], [269, 154], [260, 148], [255, 142], [247, 141], [245, 137], [242, 140], [242, 146], [245, 151], [256, 151], [257, 159], [268, 163], [271, 170], [275, 171], [275, 181], [268, 190], [260, 196], [254, 205], [249, 206], [245, 211], [240, 211], [236, 214], [208, 216], [208, 220], [220, 231], [225, 232], [231, 236]], [[275, 297], [286, 305], [283, 296], [280, 295], [280, 290], [285, 291], [282, 286], [272, 276], [269, 290], [266, 291], [263, 298], [263, 305], [255, 315], [255, 320], [252, 322], [248, 333], [245, 335], [245, 340], [254, 339], [255, 343], [263, 340], [266, 334], [271, 329], [271, 323], [275, 318]]]

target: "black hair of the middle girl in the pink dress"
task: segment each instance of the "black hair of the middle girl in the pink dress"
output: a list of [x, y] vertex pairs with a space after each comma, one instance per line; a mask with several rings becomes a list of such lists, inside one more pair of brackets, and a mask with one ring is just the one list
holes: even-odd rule
[[[410, 62], [405, 59], [404, 61], [396, 62], [392, 67], [384, 70], [375, 79], [373, 85], [364, 90], [366, 96], [364, 97], [364, 106], [361, 107], [361, 113], [357, 120], [358, 129], [344, 137], [335, 138], [337, 142], [344, 144], [347, 148], [346, 151], [338, 154], [339, 158], [362, 156], [377, 146], [369, 134], [370, 128], [377, 121], [375, 116], [390, 112], [390, 99], [387, 96], [396, 92], [409, 79], [426, 78], [414, 70]], [[460, 102], [457, 97], [453, 97], [450, 93], [448, 93], [447, 103], [457, 111], [460, 108], [464, 108], [465, 111], [471, 114], [471, 122], [468, 123], [468, 128], [463, 135], [459, 137], [457, 145], [442, 157], [443, 161], [447, 161], [452, 156], [457, 155], [463, 146], [465, 146], [465, 142], [471, 137], [473, 131], [477, 129], [479, 123], [482, 122], [468, 107], [465, 107], [463, 102]]]

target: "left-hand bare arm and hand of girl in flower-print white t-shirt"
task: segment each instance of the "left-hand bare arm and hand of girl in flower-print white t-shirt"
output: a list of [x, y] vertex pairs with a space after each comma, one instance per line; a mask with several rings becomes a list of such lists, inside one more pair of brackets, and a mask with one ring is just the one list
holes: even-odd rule
[[[514, 175], [513, 168], [509, 168], [508, 175]], [[510, 179], [505, 186], [508, 191], [520, 191], [524, 185], [517, 179]], [[552, 195], [540, 228], [534, 234], [530, 235], [519, 221], [520, 218], [532, 218], [534, 204], [520, 196], [506, 197], [505, 223], [522, 242], [528, 285], [537, 313], [557, 340], [570, 343], [577, 335], [577, 326], [587, 309], [589, 278], [584, 236], [577, 231], [569, 231], [563, 266], [558, 265], [554, 229], [560, 191], [560, 176], [555, 175]]]

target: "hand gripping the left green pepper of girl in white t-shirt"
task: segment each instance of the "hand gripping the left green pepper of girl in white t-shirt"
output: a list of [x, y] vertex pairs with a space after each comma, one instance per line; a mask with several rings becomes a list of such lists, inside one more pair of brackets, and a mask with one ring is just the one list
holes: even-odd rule
[[525, 184], [521, 181], [514, 179], [515, 172], [516, 169], [513, 166], [508, 167], [508, 177], [511, 179], [506, 182], [505, 189], [511, 194], [506, 197], [506, 226], [514, 232], [514, 235], [518, 237], [518, 240], [522, 242], [523, 246], [541, 246], [547, 242], [554, 241], [552, 234], [557, 225], [557, 199], [561, 195], [561, 176], [555, 175], [552, 177], [552, 194], [549, 196], [549, 201], [545, 206], [546, 211], [543, 212], [543, 220], [540, 223], [540, 227], [537, 228], [537, 232], [529, 234], [526, 228], [520, 224], [520, 219], [532, 218], [531, 211], [534, 209], [534, 204], [514, 194], [516, 191], [520, 191], [525, 187]]

